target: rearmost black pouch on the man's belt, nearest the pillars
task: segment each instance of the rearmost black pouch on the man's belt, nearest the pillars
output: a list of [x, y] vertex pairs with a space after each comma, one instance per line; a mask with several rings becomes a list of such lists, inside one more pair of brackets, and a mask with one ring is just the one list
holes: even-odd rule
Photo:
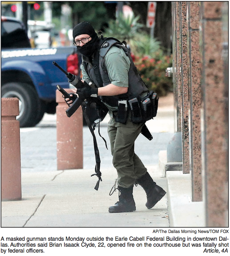
[[153, 91], [150, 91], [147, 96], [141, 99], [141, 111], [144, 122], [157, 115], [158, 99], [157, 93], [154, 93]]

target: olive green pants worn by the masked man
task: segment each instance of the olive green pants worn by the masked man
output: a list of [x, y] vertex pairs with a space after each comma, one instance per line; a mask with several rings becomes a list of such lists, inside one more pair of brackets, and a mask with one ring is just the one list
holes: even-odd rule
[[134, 153], [134, 142], [142, 127], [143, 123], [132, 123], [130, 117], [126, 124], [115, 122], [114, 118], [111, 118], [108, 123], [113, 165], [117, 170], [117, 184], [120, 187], [129, 188], [147, 171]]

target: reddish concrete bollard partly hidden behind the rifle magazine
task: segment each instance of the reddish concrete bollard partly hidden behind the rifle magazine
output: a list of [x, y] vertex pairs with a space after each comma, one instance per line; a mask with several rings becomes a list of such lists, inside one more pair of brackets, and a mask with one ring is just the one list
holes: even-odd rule
[[[68, 93], [71, 89], [64, 89]], [[57, 170], [83, 168], [83, 120], [82, 107], [67, 117], [66, 104], [62, 94], [56, 90], [57, 114]]]

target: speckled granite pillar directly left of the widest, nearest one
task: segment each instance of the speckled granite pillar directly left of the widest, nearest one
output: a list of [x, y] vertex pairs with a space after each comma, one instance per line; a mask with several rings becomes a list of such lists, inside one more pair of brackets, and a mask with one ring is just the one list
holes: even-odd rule
[[202, 201], [201, 162], [201, 59], [199, 51], [199, 2], [187, 2], [188, 67], [190, 93], [190, 155], [192, 200]]

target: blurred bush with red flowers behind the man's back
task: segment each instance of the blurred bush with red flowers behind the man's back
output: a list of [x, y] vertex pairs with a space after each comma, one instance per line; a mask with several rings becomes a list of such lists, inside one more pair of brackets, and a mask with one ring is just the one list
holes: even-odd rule
[[154, 58], [135, 56], [134, 63], [148, 89], [159, 96], [165, 96], [173, 89], [172, 78], [165, 76], [167, 67], [172, 66], [172, 56], [163, 55], [162, 51], [158, 51], [154, 56]]

